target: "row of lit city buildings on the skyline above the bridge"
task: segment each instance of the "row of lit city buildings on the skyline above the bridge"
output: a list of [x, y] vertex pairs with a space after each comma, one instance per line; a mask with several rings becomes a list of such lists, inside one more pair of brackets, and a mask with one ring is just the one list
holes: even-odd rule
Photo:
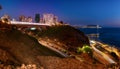
[[58, 17], [54, 14], [43, 14], [43, 16], [40, 16], [40, 14], [35, 14], [35, 18], [33, 19], [31, 16], [19, 16], [19, 19], [11, 19], [9, 15], [5, 14], [1, 17], [1, 20], [4, 20], [6, 22], [9, 21], [20, 21], [20, 22], [35, 22], [35, 23], [44, 23], [44, 24], [50, 24], [50, 25], [57, 25], [57, 24], [63, 24], [63, 22], [58, 22]]

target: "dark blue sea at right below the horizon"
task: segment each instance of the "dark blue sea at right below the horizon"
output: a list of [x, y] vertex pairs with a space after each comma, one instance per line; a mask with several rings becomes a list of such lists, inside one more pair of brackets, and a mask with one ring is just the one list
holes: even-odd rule
[[120, 28], [79, 28], [79, 30], [86, 35], [99, 34], [99, 37], [92, 37], [92, 39], [120, 48]]

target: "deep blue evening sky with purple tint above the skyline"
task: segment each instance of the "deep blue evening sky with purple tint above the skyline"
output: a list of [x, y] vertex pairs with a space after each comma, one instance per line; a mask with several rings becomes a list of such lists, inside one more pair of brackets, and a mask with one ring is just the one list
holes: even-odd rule
[[120, 0], [0, 0], [0, 16], [12, 18], [53, 13], [73, 25], [120, 27]]

